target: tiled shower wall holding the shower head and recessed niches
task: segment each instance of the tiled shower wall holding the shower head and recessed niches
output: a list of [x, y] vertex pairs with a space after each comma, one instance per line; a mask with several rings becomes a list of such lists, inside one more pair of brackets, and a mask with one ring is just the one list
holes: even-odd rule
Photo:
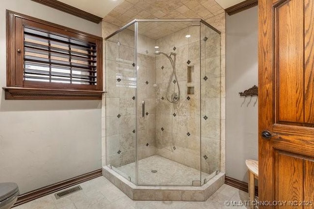
[[[165, 56], [158, 56], [157, 154], [198, 170], [202, 167], [206, 173], [215, 172], [220, 169], [220, 35], [201, 24], [162, 37], [156, 45], [162, 52], [177, 53], [181, 93], [178, 104], [165, 99], [172, 67]], [[174, 77], [172, 81], [171, 88], [176, 85]]]

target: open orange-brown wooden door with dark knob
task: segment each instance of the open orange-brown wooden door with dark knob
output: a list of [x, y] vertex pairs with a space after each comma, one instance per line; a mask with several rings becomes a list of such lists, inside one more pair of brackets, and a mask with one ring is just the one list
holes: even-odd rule
[[259, 0], [259, 135], [259, 199], [314, 209], [314, 0]]

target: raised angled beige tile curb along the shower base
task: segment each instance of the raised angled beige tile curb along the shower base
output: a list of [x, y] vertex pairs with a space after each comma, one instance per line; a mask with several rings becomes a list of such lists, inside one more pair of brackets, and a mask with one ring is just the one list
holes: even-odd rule
[[108, 166], [103, 176], [132, 200], [206, 201], [225, 182], [225, 173], [219, 172], [202, 186], [137, 186]]

